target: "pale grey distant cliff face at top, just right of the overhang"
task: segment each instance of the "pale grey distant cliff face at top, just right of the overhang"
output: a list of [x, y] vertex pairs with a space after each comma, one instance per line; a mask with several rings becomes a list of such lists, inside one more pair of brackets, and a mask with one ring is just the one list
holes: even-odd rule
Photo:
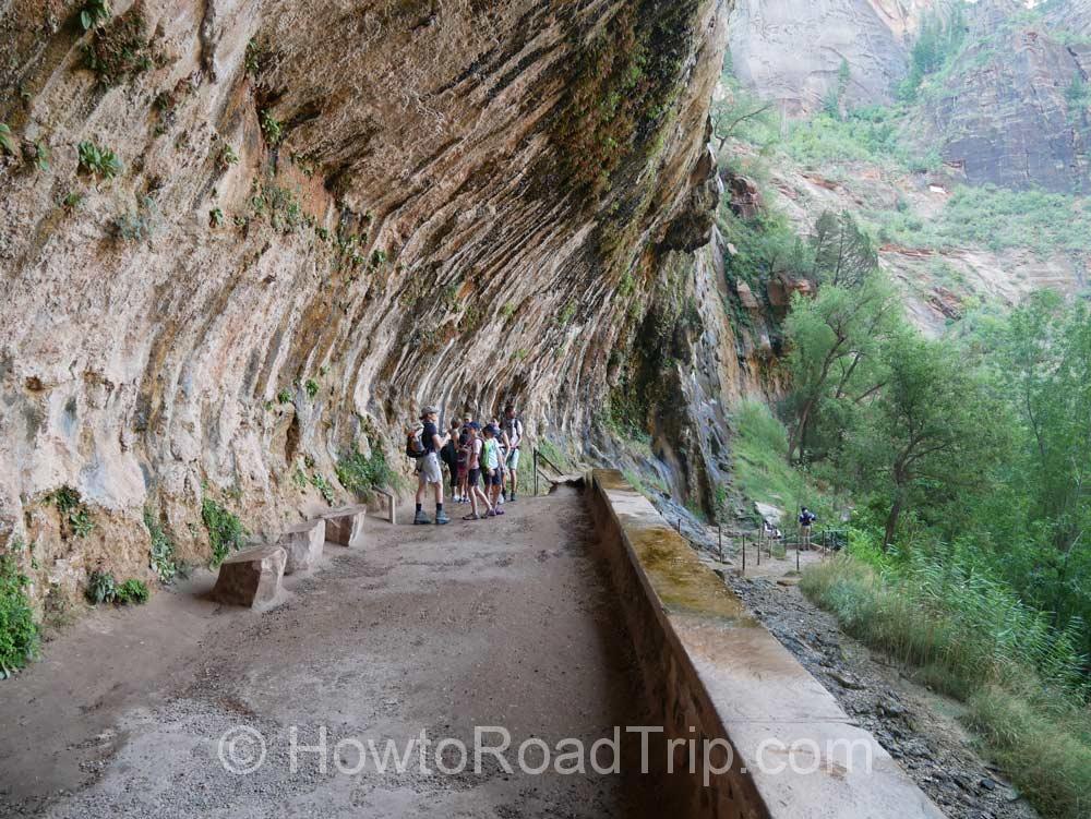
[[735, 73], [791, 116], [813, 113], [838, 87], [850, 106], [890, 101], [908, 45], [934, 0], [741, 0], [731, 15]]

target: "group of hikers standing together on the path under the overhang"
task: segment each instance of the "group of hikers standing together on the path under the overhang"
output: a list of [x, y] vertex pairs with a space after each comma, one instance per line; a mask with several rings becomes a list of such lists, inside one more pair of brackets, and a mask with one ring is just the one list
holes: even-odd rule
[[515, 501], [518, 490], [519, 447], [523, 421], [513, 405], [503, 419], [479, 423], [472, 415], [454, 419], [440, 432], [440, 410], [425, 407], [420, 421], [406, 431], [406, 455], [417, 461], [417, 513], [413, 523], [431, 523], [424, 513], [429, 486], [435, 498], [435, 520], [449, 523], [443, 508], [443, 466], [447, 468], [452, 502], [469, 504], [463, 520], [480, 520], [503, 515], [503, 504]]

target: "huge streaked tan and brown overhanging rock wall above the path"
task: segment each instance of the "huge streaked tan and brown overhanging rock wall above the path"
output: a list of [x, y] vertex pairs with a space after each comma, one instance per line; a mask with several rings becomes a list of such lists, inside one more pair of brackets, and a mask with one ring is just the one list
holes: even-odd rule
[[[424, 402], [578, 444], [706, 344], [673, 330], [707, 288], [720, 0], [81, 8], [0, 7], [0, 543], [39, 602], [148, 577], [145, 508], [206, 559], [204, 499], [257, 531], [347, 499], [337, 459], [400, 463]], [[694, 366], [637, 412], [683, 491], [717, 469]]]

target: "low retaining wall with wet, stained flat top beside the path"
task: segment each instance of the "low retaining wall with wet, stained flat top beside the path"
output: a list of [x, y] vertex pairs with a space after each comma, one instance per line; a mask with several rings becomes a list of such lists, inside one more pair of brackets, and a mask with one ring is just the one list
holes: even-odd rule
[[[655, 724], [666, 730], [652, 749], [660, 767], [671, 756], [683, 771], [664, 781], [684, 816], [944, 816], [619, 472], [592, 471], [587, 493]], [[685, 744], [668, 754], [671, 738]], [[732, 760], [707, 786], [704, 739], [727, 740]], [[724, 768], [728, 751], [714, 748]]]

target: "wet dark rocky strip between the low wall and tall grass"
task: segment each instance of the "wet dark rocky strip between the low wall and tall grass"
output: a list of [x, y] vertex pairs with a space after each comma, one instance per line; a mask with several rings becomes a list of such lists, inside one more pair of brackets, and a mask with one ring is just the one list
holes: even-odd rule
[[[776, 575], [789, 563], [777, 561]], [[764, 565], [768, 570], [768, 564]], [[724, 577], [765, 626], [872, 732], [914, 782], [952, 819], [1035, 819], [973, 749], [957, 722], [958, 703], [912, 683], [902, 671], [846, 636], [832, 615], [776, 576]]]

